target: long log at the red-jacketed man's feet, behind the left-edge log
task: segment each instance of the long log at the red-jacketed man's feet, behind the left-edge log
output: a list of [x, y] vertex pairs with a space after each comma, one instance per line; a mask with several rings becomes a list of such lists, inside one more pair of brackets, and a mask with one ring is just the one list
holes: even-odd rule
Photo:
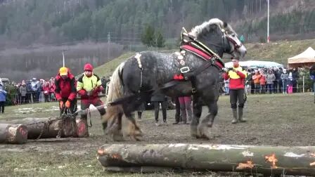
[[56, 138], [57, 136], [61, 138], [77, 137], [77, 125], [75, 121], [71, 122], [70, 119], [25, 118], [1, 122], [27, 126], [27, 139]]

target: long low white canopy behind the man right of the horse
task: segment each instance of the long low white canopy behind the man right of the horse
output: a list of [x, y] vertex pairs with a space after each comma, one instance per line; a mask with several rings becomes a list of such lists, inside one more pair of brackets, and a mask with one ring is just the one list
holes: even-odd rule
[[[276, 63], [276, 62], [270, 62], [270, 61], [257, 61], [257, 60], [250, 60], [250, 61], [240, 61], [241, 67], [283, 67], [283, 65]], [[225, 63], [225, 67], [232, 67], [233, 63], [228, 62]]]

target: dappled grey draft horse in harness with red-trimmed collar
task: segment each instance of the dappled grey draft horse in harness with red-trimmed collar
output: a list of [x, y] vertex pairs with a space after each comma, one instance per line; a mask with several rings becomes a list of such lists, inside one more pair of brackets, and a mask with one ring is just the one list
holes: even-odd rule
[[[130, 120], [129, 136], [138, 139], [141, 130], [134, 111], [156, 92], [167, 96], [193, 95], [191, 136], [210, 138], [210, 128], [217, 115], [219, 77], [223, 53], [243, 58], [246, 48], [226, 22], [214, 18], [181, 33], [180, 52], [143, 51], [121, 63], [109, 85], [108, 109], [103, 122], [114, 140], [122, 138], [122, 116]], [[200, 121], [203, 105], [209, 109]]]

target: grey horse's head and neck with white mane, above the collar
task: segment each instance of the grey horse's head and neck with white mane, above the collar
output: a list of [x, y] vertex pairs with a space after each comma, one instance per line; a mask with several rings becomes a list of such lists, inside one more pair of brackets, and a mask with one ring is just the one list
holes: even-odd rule
[[189, 34], [217, 52], [221, 57], [223, 53], [229, 53], [233, 58], [242, 59], [246, 54], [246, 48], [238, 39], [238, 34], [229, 24], [218, 18], [212, 18], [193, 27]]

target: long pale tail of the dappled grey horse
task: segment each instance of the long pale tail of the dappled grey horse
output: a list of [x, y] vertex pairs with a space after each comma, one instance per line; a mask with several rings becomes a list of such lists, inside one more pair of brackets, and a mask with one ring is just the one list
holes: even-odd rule
[[111, 102], [117, 100], [118, 98], [122, 98], [123, 96], [123, 85], [122, 85], [122, 69], [124, 68], [124, 63], [121, 63], [116, 67], [113, 75], [110, 79], [110, 83], [108, 85], [108, 96], [106, 99], [106, 105], [108, 105], [106, 109], [105, 117], [102, 117], [102, 122], [111, 122], [113, 124], [117, 118], [122, 117], [124, 111], [122, 110], [122, 105], [110, 105]]

